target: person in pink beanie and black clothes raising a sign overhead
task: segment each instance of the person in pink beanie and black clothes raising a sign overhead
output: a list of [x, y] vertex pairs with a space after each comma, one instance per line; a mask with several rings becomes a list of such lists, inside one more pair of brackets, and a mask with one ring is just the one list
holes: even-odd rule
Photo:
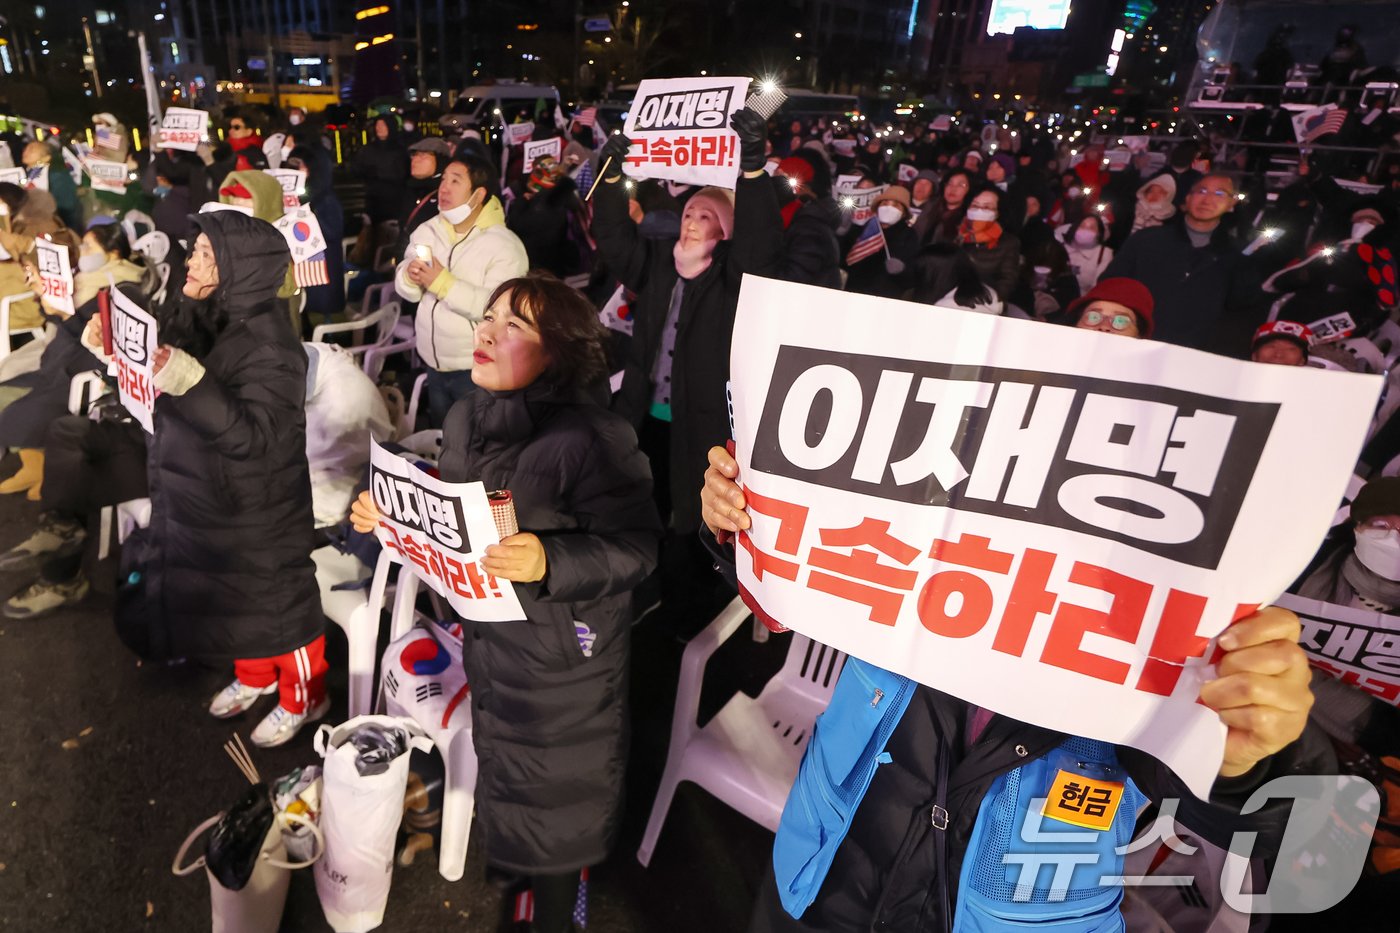
[[[696, 528], [694, 489], [704, 451], [729, 434], [725, 385], [729, 339], [745, 272], [773, 275], [784, 249], [773, 179], [764, 172], [764, 120], [745, 108], [731, 126], [739, 137], [736, 189], [701, 188], [685, 203], [680, 235], [643, 237], [627, 216], [623, 160], [631, 144], [610, 137], [594, 193], [592, 234], [608, 269], [637, 296], [633, 339], [613, 410], [626, 417], [657, 475], [657, 504], [668, 537], [661, 591], [668, 623], [687, 637], [708, 622], [713, 587]], [[830, 234], [827, 234], [830, 235]], [[731, 238], [732, 237], [732, 238]]]

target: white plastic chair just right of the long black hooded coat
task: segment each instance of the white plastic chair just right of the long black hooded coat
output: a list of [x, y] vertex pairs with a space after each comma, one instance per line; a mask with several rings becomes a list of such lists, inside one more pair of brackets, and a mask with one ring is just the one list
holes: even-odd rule
[[379, 637], [379, 614], [393, 562], [388, 551], [379, 552], [374, 566], [374, 580], [367, 590], [336, 590], [343, 583], [364, 579], [364, 565], [354, 555], [325, 546], [311, 552], [316, 565], [316, 586], [321, 588], [321, 611], [340, 626], [349, 644], [350, 717], [365, 716], [374, 705], [374, 663]]

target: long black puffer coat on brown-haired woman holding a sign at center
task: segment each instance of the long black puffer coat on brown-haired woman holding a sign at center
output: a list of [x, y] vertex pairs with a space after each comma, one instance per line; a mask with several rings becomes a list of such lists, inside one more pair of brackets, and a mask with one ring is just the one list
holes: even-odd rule
[[631, 588], [661, 537], [651, 469], [620, 417], [542, 382], [473, 392], [442, 440], [442, 479], [510, 489], [546, 555], [542, 581], [515, 584], [528, 621], [462, 623], [486, 859], [524, 874], [596, 864], [622, 817]]

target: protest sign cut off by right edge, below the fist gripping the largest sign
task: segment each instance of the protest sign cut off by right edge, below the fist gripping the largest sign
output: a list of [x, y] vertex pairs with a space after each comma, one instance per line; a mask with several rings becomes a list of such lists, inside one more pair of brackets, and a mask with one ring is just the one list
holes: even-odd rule
[[1400, 616], [1352, 609], [1285, 593], [1277, 605], [1298, 614], [1313, 667], [1400, 706]]

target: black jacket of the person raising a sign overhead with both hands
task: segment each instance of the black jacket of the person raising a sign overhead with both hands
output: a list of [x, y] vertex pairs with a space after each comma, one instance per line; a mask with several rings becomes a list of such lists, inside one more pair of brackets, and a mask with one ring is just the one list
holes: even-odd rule
[[[661, 353], [671, 310], [676, 263], [675, 238], [643, 237], [627, 217], [622, 185], [602, 184], [594, 193], [594, 240], [619, 282], [637, 294], [634, 329], [622, 389], [613, 410], [640, 427], [651, 408], [651, 373]], [[743, 273], [773, 275], [783, 248], [783, 219], [767, 175], [739, 178], [734, 203], [734, 238], [714, 248], [710, 268], [686, 283], [680, 297], [676, 356], [671, 368], [672, 530], [700, 527], [700, 489], [707, 451], [729, 437], [725, 384], [729, 338]], [[661, 478], [666, 482], [666, 478]]]

